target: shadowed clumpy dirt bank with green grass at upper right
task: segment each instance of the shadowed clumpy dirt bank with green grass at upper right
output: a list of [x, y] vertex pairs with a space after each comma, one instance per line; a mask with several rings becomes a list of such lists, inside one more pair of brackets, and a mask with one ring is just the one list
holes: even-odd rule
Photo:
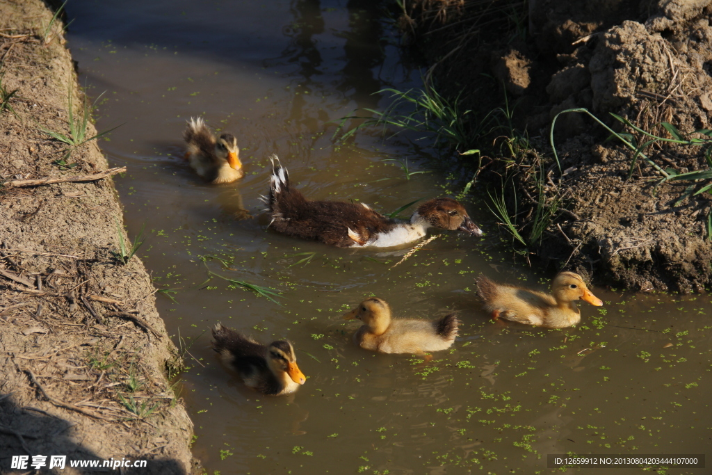
[[[614, 130], [633, 132], [637, 143], [649, 137], [609, 113], [664, 138], [674, 137], [660, 122], [688, 137], [710, 128], [711, 14], [710, 1], [416, 1], [401, 26], [424, 52], [429, 78], [451, 97], [461, 94], [474, 118], [503, 107], [507, 95], [510, 121], [526, 137], [523, 148], [535, 150], [501, 160], [501, 147], [483, 145], [491, 137], [473, 137], [473, 146], [494, 160], [488, 169], [495, 173], [482, 175], [486, 182], [501, 184], [512, 160], [538, 167], [531, 156], [545, 155], [546, 199], [567, 211], [555, 214], [530, 251], [604, 285], [691, 292], [712, 283], [712, 196], [694, 195], [710, 181], [660, 182], [665, 174], [710, 169], [703, 147], [650, 145], [644, 152], [657, 168], [638, 160], [629, 178], [634, 152], [606, 140], [609, 132], [587, 115], [557, 121], [560, 169], [548, 137], [555, 115], [570, 108], [587, 108]], [[526, 199], [531, 182], [515, 182], [519, 209], [533, 207], [536, 200]], [[530, 226], [527, 213], [518, 224]]]

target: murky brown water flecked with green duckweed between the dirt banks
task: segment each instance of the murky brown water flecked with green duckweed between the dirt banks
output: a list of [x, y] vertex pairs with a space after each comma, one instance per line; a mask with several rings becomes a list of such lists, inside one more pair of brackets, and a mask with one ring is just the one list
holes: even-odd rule
[[[405, 251], [347, 251], [269, 231], [259, 195], [278, 154], [310, 197], [360, 199], [392, 212], [456, 193], [424, 152], [377, 134], [338, 147], [330, 122], [385, 105], [380, 88], [417, 85], [367, 1], [100, 1], [68, 5], [70, 47], [99, 99], [102, 142], [159, 310], [189, 346], [179, 384], [209, 474], [549, 473], [547, 454], [712, 455], [708, 296], [595, 288], [568, 330], [491, 324], [473, 296], [478, 273], [544, 282], [483, 239], [442, 234]], [[211, 187], [185, 167], [187, 118], [233, 132], [246, 177]], [[433, 162], [430, 162], [433, 163]], [[476, 201], [476, 200], [475, 200]], [[488, 212], [468, 202], [476, 221]], [[250, 217], [253, 216], [253, 217]], [[278, 303], [224, 278], [276, 289]], [[454, 348], [425, 362], [355, 348], [341, 315], [366, 296], [397, 315], [463, 321]], [[585, 305], [585, 304], [584, 304]], [[246, 390], [209, 349], [221, 321], [263, 341], [288, 338], [308, 381], [291, 397]], [[712, 464], [712, 460], [708, 461]], [[667, 473], [709, 473], [671, 469]], [[571, 470], [585, 473], [587, 469]], [[609, 469], [634, 473], [640, 469]]]

